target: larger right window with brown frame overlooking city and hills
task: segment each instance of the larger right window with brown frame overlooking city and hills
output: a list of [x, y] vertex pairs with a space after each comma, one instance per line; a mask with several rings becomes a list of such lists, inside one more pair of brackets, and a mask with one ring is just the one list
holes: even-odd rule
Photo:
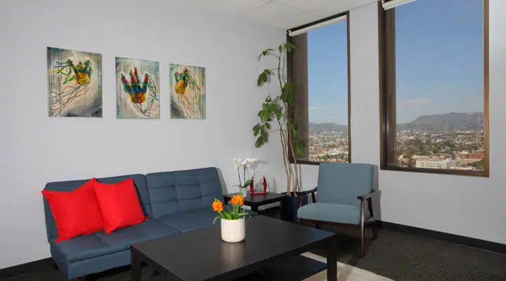
[[382, 169], [488, 176], [488, 0], [381, 5]]

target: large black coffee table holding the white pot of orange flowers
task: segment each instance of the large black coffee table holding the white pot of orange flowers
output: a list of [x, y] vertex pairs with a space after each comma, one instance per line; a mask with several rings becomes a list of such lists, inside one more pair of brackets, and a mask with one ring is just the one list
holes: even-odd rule
[[131, 280], [141, 280], [147, 263], [168, 280], [232, 280], [310, 249], [327, 247], [327, 280], [337, 280], [335, 233], [267, 216], [246, 221], [246, 240], [221, 240], [220, 226], [132, 244]]

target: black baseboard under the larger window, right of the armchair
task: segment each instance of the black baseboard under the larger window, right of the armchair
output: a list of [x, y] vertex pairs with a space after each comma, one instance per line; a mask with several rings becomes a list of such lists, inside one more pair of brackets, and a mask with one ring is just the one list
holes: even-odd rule
[[405, 226], [398, 223], [389, 223], [387, 221], [377, 221], [380, 228], [398, 231], [400, 233], [407, 233], [418, 235], [422, 237], [432, 238], [436, 240], [443, 240], [455, 244], [462, 244], [469, 247], [484, 249], [487, 251], [495, 251], [496, 253], [506, 254], [506, 244], [500, 244], [487, 240], [481, 240], [461, 235], [450, 233], [442, 233], [436, 230], [428, 230], [425, 228], [415, 228], [414, 226]]

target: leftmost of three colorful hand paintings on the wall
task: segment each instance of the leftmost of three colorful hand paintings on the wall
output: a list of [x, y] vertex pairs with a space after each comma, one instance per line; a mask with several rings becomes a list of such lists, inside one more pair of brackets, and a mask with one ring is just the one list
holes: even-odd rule
[[102, 117], [102, 55], [47, 48], [49, 117]]

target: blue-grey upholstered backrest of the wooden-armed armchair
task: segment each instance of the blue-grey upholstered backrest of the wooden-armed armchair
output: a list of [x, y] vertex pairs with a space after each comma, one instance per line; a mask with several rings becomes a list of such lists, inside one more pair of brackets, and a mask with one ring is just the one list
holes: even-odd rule
[[357, 163], [320, 163], [318, 202], [360, 206], [359, 195], [372, 190], [374, 166]]

